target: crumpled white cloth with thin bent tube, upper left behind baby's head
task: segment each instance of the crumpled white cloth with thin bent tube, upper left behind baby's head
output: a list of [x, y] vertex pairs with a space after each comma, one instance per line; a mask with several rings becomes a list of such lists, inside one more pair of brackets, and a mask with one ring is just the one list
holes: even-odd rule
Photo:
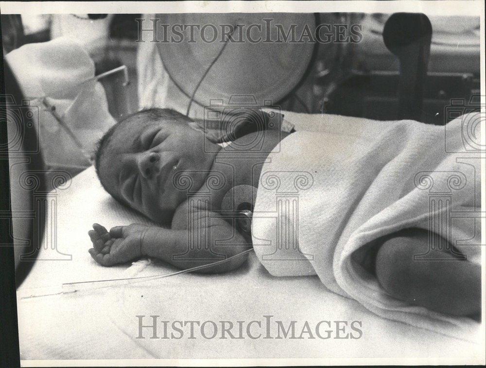
[[65, 36], [25, 44], [5, 58], [25, 97], [39, 107], [39, 138], [46, 169], [75, 175], [89, 167], [97, 141], [116, 123], [98, 80], [121, 75], [124, 88], [127, 68], [97, 73], [87, 50]]

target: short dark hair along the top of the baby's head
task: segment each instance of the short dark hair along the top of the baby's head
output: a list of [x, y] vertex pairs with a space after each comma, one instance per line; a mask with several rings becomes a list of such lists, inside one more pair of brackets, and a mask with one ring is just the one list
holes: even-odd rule
[[159, 119], [165, 119], [167, 121], [175, 121], [175, 122], [187, 122], [187, 123], [192, 122], [191, 118], [172, 109], [160, 109], [160, 108], [145, 109], [123, 118], [117, 124], [113, 125], [100, 139], [100, 141], [98, 142], [98, 148], [96, 150], [95, 159], [94, 159], [94, 167], [96, 169], [96, 174], [98, 175], [98, 178], [100, 179], [100, 182], [103, 185], [104, 189], [108, 193], [110, 193], [117, 201], [129, 207], [130, 205], [126, 201], [124, 201], [120, 196], [117, 196], [115, 193], [111, 193], [110, 190], [108, 190], [106, 185], [101, 180], [100, 171], [99, 171], [100, 162], [104, 152], [106, 151], [106, 147], [108, 147], [108, 144], [111, 142], [111, 138], [113, 134], [118, 129], [121, 129], [123, 126], [130, 124], [136, 120], [142, 120], [142, 119], [145, 122], [157, 121]]

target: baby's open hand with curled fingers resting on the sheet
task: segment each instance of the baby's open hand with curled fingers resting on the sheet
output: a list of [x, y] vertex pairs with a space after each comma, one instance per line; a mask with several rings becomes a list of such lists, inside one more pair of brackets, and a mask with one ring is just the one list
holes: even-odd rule
[[93, 243], [89, 254], [100, 265], [113, 266], [141, 257], [143, 237], [149, 227], [140, 224], [115, 226], [108, 233], [104, 226], [94, 224], [93, 229], [88, 232]]

